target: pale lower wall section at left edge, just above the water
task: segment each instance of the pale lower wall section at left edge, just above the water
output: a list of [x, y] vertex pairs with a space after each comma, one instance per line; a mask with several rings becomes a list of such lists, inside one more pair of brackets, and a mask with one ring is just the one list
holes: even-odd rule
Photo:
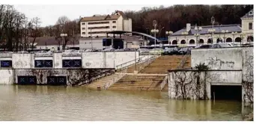
[[13, 69], [0, 69], [0, 84], [13, 84]]

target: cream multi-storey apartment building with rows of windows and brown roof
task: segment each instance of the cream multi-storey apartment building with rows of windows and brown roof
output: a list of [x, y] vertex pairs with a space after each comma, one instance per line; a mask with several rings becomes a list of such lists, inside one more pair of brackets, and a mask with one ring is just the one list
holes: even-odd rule
[[132, 19], [120, 10], [106, 16], [83, 17], [80, 25], [81, 37], [106, 37], [108, 31], [132, 31]]

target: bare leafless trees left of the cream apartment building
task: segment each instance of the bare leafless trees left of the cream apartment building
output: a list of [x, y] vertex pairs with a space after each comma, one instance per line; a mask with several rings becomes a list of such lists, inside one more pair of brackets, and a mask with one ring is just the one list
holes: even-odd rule
[[62, 44], [61, 34], [67, 34], [64, 37], [66, 46], [68, 40], [75, 40], [76, 34], [80, 34], [79, 19], [71, 21], [67, 16], [61, 16], [55, 25], [41, 27], [41, 23], [40, 18], [28, 19], [13, 5], [0, 4], [0, 50], [17, 52], [34, 49], [37, 37], [55, 37]]

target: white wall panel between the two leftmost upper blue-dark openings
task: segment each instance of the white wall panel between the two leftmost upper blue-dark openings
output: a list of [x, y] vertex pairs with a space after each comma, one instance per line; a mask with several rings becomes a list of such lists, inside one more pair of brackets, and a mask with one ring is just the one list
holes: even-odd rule
[[34, 68], [34, 54], [13, 54], [14, 69], [31, 69]]

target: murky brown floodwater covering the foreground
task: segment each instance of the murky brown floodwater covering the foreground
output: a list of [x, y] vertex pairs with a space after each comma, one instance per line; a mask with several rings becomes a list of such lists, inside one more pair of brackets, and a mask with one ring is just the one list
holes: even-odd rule
[[0, 120], [243, 120], [242, 103], [168, 99], [168, 92], [0, 85]]

